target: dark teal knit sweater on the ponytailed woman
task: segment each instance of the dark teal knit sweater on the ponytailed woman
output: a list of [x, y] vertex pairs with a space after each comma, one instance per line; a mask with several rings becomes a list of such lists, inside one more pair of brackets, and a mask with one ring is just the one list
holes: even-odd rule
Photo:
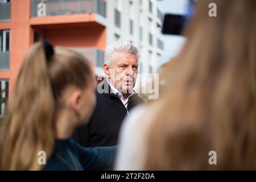
[[113, 162], [117, 146], [82, 147], [73, 139], [55, 140], [51, 158], [43, 170], [104, 170]]

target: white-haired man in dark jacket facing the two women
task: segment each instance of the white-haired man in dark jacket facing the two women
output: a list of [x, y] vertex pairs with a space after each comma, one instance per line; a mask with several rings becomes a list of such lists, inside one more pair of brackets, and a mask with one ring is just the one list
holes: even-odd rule
[[138, 74], [138, 49], [133, 44], [117, 41], [106, 47], [103, 68], [106, 78], [98, 85], [93, 115], [73, 134], [84, 147], [116, 145], [123, 118], [143, 102], [133, 90]]

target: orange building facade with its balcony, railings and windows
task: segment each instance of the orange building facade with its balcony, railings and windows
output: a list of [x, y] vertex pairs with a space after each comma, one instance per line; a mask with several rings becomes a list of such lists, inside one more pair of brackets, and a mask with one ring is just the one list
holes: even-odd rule
[[42, 2], [0, 0], [0, 85], [5, 89], [1, 97], [11, 94], [24, 55], [40, 40], [77, 49], [93, 65], [102, 64], [106, 27], [97, 19], [106, 16], [106, 1], [51, 0], [44, 1], [46, 6]]

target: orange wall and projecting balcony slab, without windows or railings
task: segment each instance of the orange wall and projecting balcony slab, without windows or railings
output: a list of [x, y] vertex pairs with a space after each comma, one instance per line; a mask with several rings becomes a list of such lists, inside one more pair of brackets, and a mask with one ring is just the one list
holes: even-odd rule
[[0, 79], [10, 82], [10, 96], [24, 56], [34, 43], [35, 31], [56, 46], [103, 50], [106, 27], [98, 24], [95, 16], [92, 13], [30, 18], [30, 0], [11, 1], [11, 19], [0, 22], [0, 30], [10, 30], [10, 69], [0, 70]]

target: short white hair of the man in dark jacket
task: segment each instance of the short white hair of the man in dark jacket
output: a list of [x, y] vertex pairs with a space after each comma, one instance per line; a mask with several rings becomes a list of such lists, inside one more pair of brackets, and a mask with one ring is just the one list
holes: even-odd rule
[[139, 51], [138, 48], [134, 46], [134, 44], [118, 40], [106, 47], [104, 55], [105, 64], [112, 64], [115, 52], [129, 53], [130, 55], [135, 55], [137, 57], [137, 60], [139, 59]]

